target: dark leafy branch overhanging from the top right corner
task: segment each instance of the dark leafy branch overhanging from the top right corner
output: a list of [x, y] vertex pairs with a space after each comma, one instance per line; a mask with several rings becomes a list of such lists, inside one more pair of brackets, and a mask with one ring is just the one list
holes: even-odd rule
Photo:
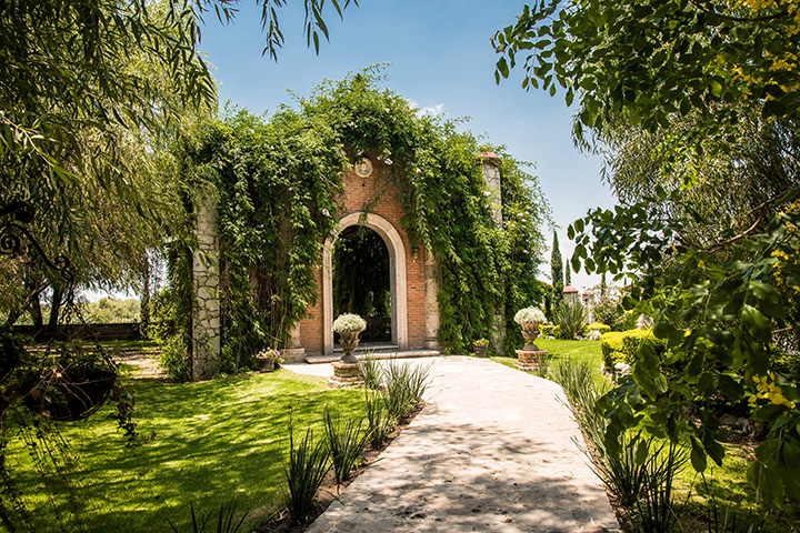
[[649, 131], [672, 113], [701, 111], [711, 130], [736, 121], [737, 102], [762, 102], [764, 117], [800, 102], [796, 1], [621, 2], [559, 0], [526, 6], [498, 31], [496, 79], [520, 66], [522, 87], [578, 98], [576, 130], [602, 130], [616, 114]]

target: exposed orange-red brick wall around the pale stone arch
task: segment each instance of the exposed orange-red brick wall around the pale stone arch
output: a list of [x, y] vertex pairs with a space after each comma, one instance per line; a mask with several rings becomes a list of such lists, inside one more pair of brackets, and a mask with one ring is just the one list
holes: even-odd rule
[[[361, 212], [369, 205], [369, 212], [386, 219], [402, 238], [403, 253], [407, 269], [407, 306], [408, 306], [408, 336], [409, 348], [422, 348], [426, 338], [426, 309], [424, 309], [424, 257], [422, 250], [412, 250], [406, 231], [400, 223], [404, 211], [400, 192], [387, 177], [387, 167], [374, 155], [372, 173], [361, 178], [352, 171], [347, 171], [343, 178], [344, 194], [341, 199], [343, 218], [350, 213]], [[379, 195], [377, 202], [373, 202]], [[307, 353], [322, 352], [322, 274], [317, 272], [317, 286], [319, 298], [317, 305], [309, 309], [310, 318], [300, 323], [300, 340]]]

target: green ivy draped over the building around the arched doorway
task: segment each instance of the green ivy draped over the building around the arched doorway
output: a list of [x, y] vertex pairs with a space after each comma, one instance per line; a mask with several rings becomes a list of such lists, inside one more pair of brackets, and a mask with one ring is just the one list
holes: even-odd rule
[[[536, 178], [461, 123], [421, 113], [379, 88], [382, 80], [371, 68], [326, 81], [296, 109], [270, 117], [228, 110], [187, 155], [219, 194], [226, 364], [242, 365], [264, 345], [282, 345], [314, 303], [322, 243], [346, 214], [338, 202], [341, 177], [363, 153], [378, 154], [390, 169], [412, 245], [436, 255], [439, 341], [447, 350], [463, 353], [473, 340], [491, 336], [496, 309], [506, 309], [516, 332], [516, 310], [540, 301], [536, 275], [549, 208]], [[478, 158], [487, 150], [501, 158], [500, 229]], [[506, 348], [521, 340], [516, 332]]]

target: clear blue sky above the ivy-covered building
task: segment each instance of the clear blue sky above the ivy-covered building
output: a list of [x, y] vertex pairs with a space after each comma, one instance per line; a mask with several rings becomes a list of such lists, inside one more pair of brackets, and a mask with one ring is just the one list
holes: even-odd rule
[[[521, 71], [494, 83], [497, 56], [490, 44], [494, 31], [511, 24], [523, 2], [486, 0], [361, 0], [339, 20], [330, 9], [326, 22], [330, 42], [320, 53], [306, 47], [302, 2], [279, 11], [286, 47], [278, 62], [261, 56], [260, 10], [252, 0], [239, 3], [228, 27], [207, 13], [200, 50], [213, 63], [221, 101], [260, 114], [280, 103], [287, 92], [306, 95], [323, 79], [338, 80], [374, 63], [390, 63], [387, 87], [420, 108], [450, 118], [471, 117], [463, 125], [493, 144], [506, 144], [517, 159], [536, 163], [527, 169], [539, 177], [560, 225], [564, 257], [571, 255], [567, 225], [590, 208], [611, 207], [613, 197], [600, 182], [598, 158], [580, 153], [570, 137], [572, 110], [562, 94], [526, 92]], [[547, 260], [549, 261], [549, 253]], [[542, 269], [549, 278], [549, 266]], [[588, 286], [596, 278], [573, 274], [572, 283]]]

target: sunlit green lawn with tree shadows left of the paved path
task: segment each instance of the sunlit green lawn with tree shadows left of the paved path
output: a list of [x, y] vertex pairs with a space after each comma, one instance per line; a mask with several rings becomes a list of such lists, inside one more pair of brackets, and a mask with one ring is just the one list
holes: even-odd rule
[[326, 404], [342, 414], [361, 415], [363, 409], [362, 391], [329, 390], [324, 379], [288, 371], [203, 383], [131, 382], [138, 429], [153, 440], [124, 449], [116, 423], [104, 416], [108, 406], [86, 423], [63, 424], [81, 456], [80, 486], [72, 492], [81, 512], [64, 512], [68, 492], [60, 491], [61, 526], [29, 473], [27, 453], [9, 450], [13, 471], [28, 472], [19, 479], [40, 522], [34, 531], [170, 531], [167, 517], [189, 524], [190, 503], [208, 511], [231, 497], [252, 510], [254, 524], [281, 505], [290, 409], [296, 430], [313, 425], [318, 435]]

